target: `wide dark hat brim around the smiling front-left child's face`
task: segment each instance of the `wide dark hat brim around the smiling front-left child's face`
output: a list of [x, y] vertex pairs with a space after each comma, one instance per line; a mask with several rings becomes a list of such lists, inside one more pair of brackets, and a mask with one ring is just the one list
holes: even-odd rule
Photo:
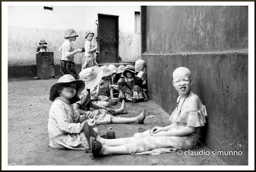
[[[70, 103], [73, 104], [73, 103], [80, 100], [78, 95], [84, 90], [85, 83], [82, 80], [75, 80], [75, 81], [71, 81], [69, 83], [78, 84], [77, 94], [73, 98], [69, 99]], [[60, 89], [60, 87], [63, 86], [64, 84], [68, 84], [68, 83], [55, 83], [55, 84], [53, 84], [53, 86], [50, 89], [50, 98], [49, 98], [50, 101], [54, 101], [55, 98], [58, 97], [58, 94], [57, 94], [58, 89]]]

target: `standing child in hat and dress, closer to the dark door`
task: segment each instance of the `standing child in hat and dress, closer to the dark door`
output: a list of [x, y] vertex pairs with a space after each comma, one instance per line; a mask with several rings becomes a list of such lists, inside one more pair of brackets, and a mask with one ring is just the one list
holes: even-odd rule
[[96, 58], [94, 56], [94, 52], [96, 52], [97, 46], [92, 44], [92, 39], [94, 37], [94, 33], [87, 30], [86, 31], [86, 43], [84, 43], [84, 49], [86, 53], [84, 54], [84, 58], [82, 59], [82, 69], [89, 68], [91, 66], [97, 66]]

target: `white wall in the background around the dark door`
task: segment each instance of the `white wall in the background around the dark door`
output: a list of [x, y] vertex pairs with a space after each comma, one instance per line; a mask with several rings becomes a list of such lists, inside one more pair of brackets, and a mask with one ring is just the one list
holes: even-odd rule
[[[97, 14], [119, 16], [119, 50], [124, 62], [140, 59], [140, 34], [135, 34], [135, 11], [140, 6], [53, 6], [53, 11], [43, 6], [8, 6], [8, 65], [36, 64], [36, 48], [45, 39], [52, 49], [55, 64], [59, 64], [58, 48], [65, 41], [64, 32], [74, 28], [79, 34], [73, 42], [75, 48], [84, 46], [87, 29], [97, 33]], [[92, 43], [96, 44], [93, 40]], [[84, 53], [75, 55], [75, 63], [81, 64]]]

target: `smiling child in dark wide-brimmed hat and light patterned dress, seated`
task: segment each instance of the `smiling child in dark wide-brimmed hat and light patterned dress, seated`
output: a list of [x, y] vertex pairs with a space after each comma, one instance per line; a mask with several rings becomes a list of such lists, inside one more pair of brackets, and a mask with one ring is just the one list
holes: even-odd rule
[[[85, 83], [65, 74], [50, 89], [50, 101], [53, 101], [49, 112], [48, 133], [50, 146], [56, 149], [89, 149], [89, 138], [84, 128], [92, 129], [96, 125], [90, 111], [80, 115], [72, 103], [80, 100], [78, 94], [84, 90]], [[95, 128], [97, 131], [97, 129]], [[92, 131], [96, 136], [96, 131]]]

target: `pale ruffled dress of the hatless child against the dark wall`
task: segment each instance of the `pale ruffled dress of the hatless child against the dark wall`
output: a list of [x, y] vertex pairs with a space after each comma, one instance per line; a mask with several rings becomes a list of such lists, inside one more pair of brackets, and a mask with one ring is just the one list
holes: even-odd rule
[[[198, 114], [198, 116], [194, 115], [195, 113]], [[189, 116], [188, 119], [190, 121], [184, 120], [186, 123], [183, 123], [184, 121], [179, 123], [179, 119], [187, 119], [183, 118], [183, 116]], [[176, 127], [170, 130], [184, 128], [185, 126], [197, 126], [200, 124], [195, 133], [188, 134], [187, 136], [150, 136], [150, 130], [147, 130], [143, 133], [135, 133], [132, 138], [123, 138], [123, 144], [125, 144], [126, 149], [130, 154], [160, 154], [179, 149], [194, 148], [198, 143], [199, 137], [201, 137], [201, 126], [204, 126], [204, 123], [206, 123], [205, 116], [207, 116], [207, 113], [206, 108], [203, 105], [196, 111], [182, 109], [181, 114], [175, 109], [170, 116], [170, 119], [176, 123]]]

